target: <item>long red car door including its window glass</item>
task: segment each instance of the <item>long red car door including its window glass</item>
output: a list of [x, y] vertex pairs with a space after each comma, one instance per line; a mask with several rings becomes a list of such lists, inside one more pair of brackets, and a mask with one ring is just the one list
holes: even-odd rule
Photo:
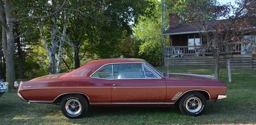
[[112, 104], [164, 104], [166, 83], [143, 64], [114, 64]]

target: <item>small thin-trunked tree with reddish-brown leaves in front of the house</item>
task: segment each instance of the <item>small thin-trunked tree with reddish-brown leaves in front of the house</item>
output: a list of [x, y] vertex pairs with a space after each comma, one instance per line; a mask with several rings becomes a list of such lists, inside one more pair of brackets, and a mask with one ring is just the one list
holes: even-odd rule
[[[226, 54], [225, 49], [232, 47], [236, 43], [243, 41], [243, 35], [248, 32], [255, 32], [252, 23], [255, 16], [248, 16], [247, 10], [251, 10], [251, 1], [237, 1], [238, 7], [231, 5], [205, 6], [201, 1], [194, 1], [188, 6], [189, 13], [186, 18], [195, 20], [200, 35], [208, 40], [207, 48], [215, 57], [215, 77], [219, 79], [220, 74], [220, 55]], [[199, 6], [201, 5], [201, 6]], [[250, 6], [249, 6], [250, 5]], [[199, 11], [200, 10], [200, 11]], [[255, 11], [250, 11], [249, 15], [255, 15]], [[226, 18], [226, 20], [215, 20]], [[214, 19], [215, 21], [211, 21]], [[194, 23], [188, 23], [194, 24]]]

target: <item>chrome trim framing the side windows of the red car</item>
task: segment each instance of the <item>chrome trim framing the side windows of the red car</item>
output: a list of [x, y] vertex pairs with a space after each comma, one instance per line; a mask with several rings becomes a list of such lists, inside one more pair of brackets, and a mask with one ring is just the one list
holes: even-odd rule
[[[158, 74], [156, 74], [149, 66], [146, 65], [146, 62], [115, 62], [115, 63], [109, 63], [109, 64], [104, 64], [103, 66], [101, 66], [100, 68], [98, 68], [95, 72], [93, 72], [90, 75], [90, 78], [96, 78], [96, 79], [106, 79], [106, 78], [97, 78], [97, 77], [92, 77], [93, 74], [95, 74], [97, 71], [99, 71], [102, 67], [106, 66], [106, 65], [112, 65], [112, 73], [113, 73], [113, 79], [106, 79], [106, 80], [114, 80], [114, 65], [115, 64], [142, 64], [144, 65], [148, 70], [150, 70], [154, 75], [157, 76], [157, 78], [125, 78], [125, 79], [161, 79], [162, 77], [159, 76]], [[143, 66], [142, 66], [143, 68]], [[145, 72], [144, 72], [145, 74]], [[116, 79], [115, 79], [116, 80]]]

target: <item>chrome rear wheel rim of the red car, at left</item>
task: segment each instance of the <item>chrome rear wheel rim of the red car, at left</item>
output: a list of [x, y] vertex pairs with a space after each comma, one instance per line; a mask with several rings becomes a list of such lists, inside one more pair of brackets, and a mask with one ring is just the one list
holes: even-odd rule
[[81, 112], [81, 103], [76, 99], [71, 99], [66, 103], [66, 110], [72, 115], [77, 115]]

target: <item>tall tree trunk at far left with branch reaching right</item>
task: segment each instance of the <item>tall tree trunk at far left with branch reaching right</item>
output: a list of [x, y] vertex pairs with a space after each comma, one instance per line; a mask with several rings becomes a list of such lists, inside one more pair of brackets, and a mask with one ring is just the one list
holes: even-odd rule
[[[33, 11], [36, 8], [27, 7], [27, 8], [16, 8], [12, 7], [12, 2], [10, 0], [0, 1], [0, 23], [2, 25], [2, 46], [4, 50], [4, 55], [6, 59], [6, 76], [7, 82], [10, 84], [10, 88], [14, 88], [15, 81], [15, 69], [14, 69], [14, 34], [13, 34], [13, 26], [14, 23], [19, 23], [25, 19], [41, 19], [54, 15], [65, 5], [66, 1], [64, 1], [61, 5], [57, 6], [56, 12], [51, 13], [50, 15], [43, 16], [34, 16]], [[37, 8], [38, 9], [38, 8]], [[13, 12], [17, 10], [28, 10], [28, 16], [23, 18], [15, 19], [13, 18]], [[29, 13], [30, 12], [30, 13]]]

